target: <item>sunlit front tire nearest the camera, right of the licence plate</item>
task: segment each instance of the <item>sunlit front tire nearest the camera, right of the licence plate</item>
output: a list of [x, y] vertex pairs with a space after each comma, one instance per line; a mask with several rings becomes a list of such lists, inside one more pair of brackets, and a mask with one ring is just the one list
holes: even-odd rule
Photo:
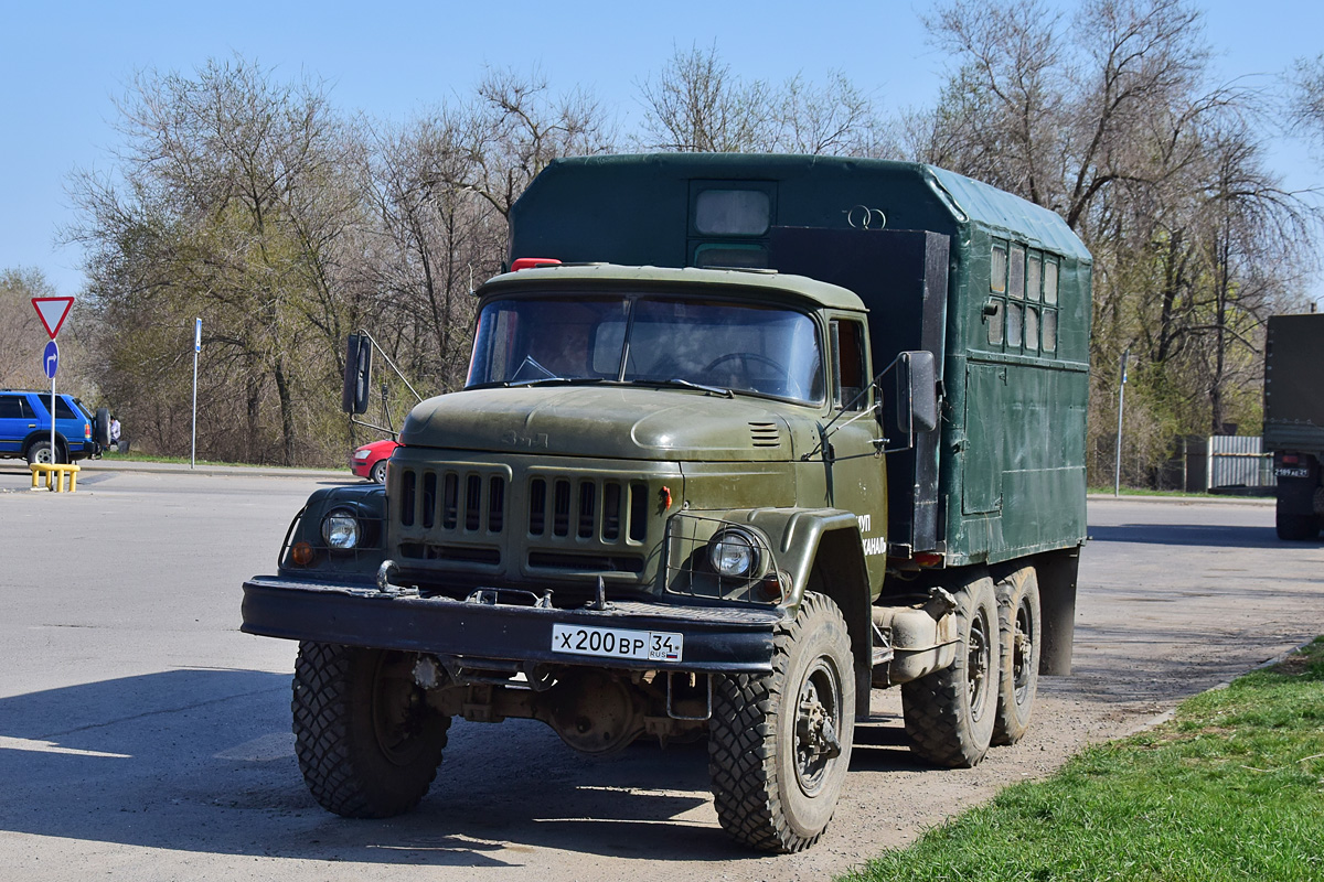
[[[718, 820], [737, 842], [785, 854], [822, 836], [850, 766], [853, 665], [837, 604], [806, 592], [773, 636], [771, 674], [714, 677], [708, 775]], [[831, 735], [814, 725], [824, 718]]]

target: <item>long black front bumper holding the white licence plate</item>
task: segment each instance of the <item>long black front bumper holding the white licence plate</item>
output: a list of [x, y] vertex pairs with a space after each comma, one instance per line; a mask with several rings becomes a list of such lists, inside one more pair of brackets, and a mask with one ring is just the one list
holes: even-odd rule
[[[281, 577], [244, 583], [241, 631], [473, 660], [632, 670], [767, 673], [772, 637], [784, 620], [771, 607], [612, 600], [608, 610], [557, 610], [508, 603], [421, 598]], [[552, 625], [584, 625], [685, 635], [679, 662], [581, 656], [552, 649]]]

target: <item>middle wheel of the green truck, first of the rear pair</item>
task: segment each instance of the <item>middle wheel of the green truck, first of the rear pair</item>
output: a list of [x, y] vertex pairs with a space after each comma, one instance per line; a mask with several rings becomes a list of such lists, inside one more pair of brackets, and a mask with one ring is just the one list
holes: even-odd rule
[[993, 581], [956, 592], [956, 661], [902, 684], [911, 750], [935, 766], [970, 768], [988, 752], [998, 696], [998, 615]]

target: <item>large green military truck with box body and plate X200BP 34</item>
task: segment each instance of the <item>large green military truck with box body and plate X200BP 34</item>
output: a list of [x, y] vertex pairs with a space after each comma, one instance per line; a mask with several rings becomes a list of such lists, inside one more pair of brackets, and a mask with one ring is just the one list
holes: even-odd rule
[[915, 164], [616, 156], [547, 168], [511, 242], [466, 387], [244, 586], [246, 632], [301, 641], [322, 805], [404, 812], [453, 718], [535, 718], [589, 754], [706, 737], [722, 826], [794, 852], [871, 688], [937, 766], [1023, 735], [1086, 534], [1061, 218]]

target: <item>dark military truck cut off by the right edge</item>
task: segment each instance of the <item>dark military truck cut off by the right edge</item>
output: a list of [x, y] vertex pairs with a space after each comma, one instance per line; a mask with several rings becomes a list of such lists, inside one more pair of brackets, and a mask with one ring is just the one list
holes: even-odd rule
[[1324, 313], [1271, 316], [1264, 340], [1264, 451], [1278, 479], [1278, 538], [1313, 540], [1324, 518]]

